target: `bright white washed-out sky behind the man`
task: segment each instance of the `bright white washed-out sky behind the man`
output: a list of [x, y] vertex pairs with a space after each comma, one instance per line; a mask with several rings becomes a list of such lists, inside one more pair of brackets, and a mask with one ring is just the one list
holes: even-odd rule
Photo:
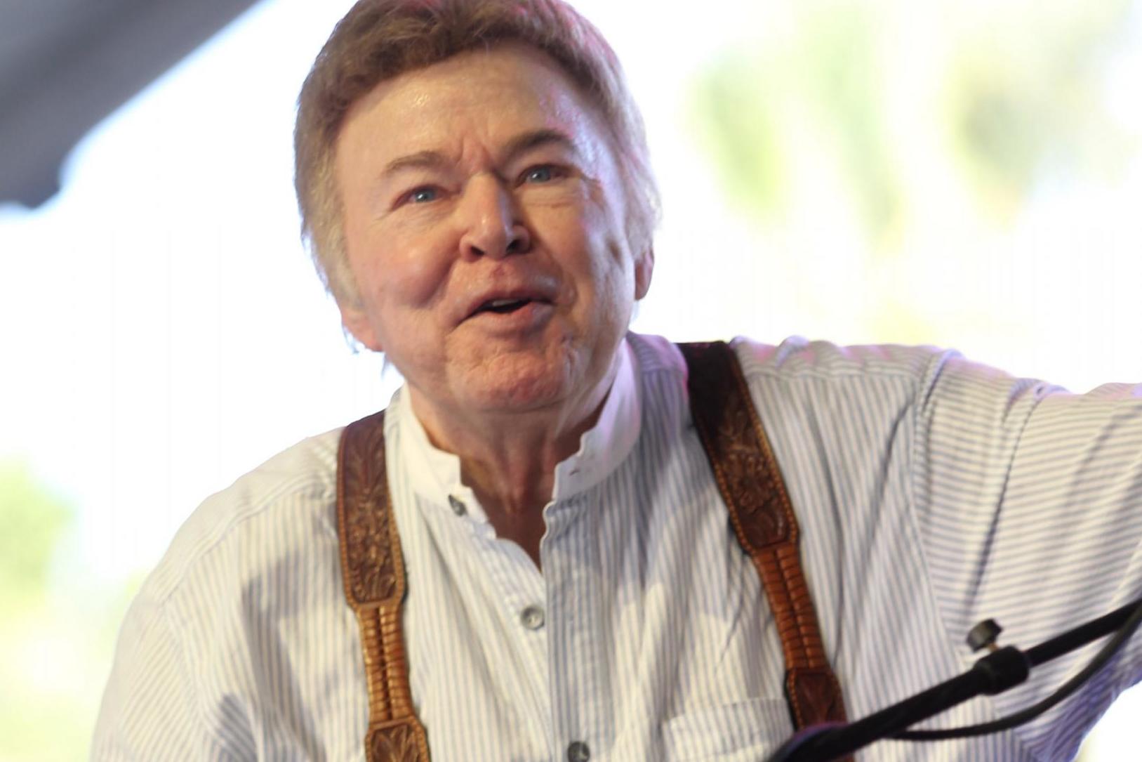
[[[58, 196], [33, 211], [0, 208], [0, 457], [27, 463], [75, 506], [75, 552], [61, 573], [121, 580], [150, 568], [206, 495], [383, 407], [399, 383], [378, 358], [348, 350], [298, 241], [293, 104], [348, 5], [256, 6], [88, 135]], [[915, 65], [886, 80], [886, 103], [902, 114], [899, 143], [924, 193], [910, 199], [919, 222], [907, 254], [871, 265], [849, 191], [814, 149], [791, 159], [795, 212], [765, 227], [727, 199], [695, 137], [695, 73], [734, 41], [788, 34], [788, 2], [738, 0], [717, 14], [659, 3], [651, 19], [644, 3], [574, 5], [626, 64], [664, 191], [637, 330], [767, 342], [911, 336], [862, 316], [891, 295], [924, 342], [1018, 375], [1077, 391], [1142, 379], [1142, 154], [1124, 153], [1109, 179], [1037, 185], [1002, 232], [964, 224], [964, 196], [943, 183], [932, 135], [910, 111], [935, 75], [930, 48], [943, 15], [933, 11], [946, 3], [895, 3], [890, 53]], [[997, 3], [970, 5], [959, 23]], [[1102, 97], [1139, 141], [1134, 10]], [[809, 125], [804, 139], [813, 139]]]

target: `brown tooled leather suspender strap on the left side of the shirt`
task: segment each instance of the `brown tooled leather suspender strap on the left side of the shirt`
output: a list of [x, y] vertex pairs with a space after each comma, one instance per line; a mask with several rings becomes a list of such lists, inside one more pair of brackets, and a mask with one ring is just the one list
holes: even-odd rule
[[337, 536], [345, 597], [361, 625], [369, 689], [367, 762], [428, 762], [412, 708], [401, 626], [404, 556], [385, 472], [385, 411], [346, 426], [337, 454]]

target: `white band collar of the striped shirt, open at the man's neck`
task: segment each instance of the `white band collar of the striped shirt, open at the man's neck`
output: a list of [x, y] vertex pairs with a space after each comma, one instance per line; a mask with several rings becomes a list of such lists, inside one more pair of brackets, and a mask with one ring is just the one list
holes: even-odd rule
[[[642, 426], [642, 401], [636, 382], [634, 353], [624, 340], [619, 345], [614, 382], [603, 402], [598, 422], [579, 439], [579, 450], [555, 467], [553, 500], [565, 500], [606, 479], [630, 454]], [[437, 449], [412, 410], [408, 388], [393, 395], [388, 408], [396, 415], [401, 442], [400, 462], [408, 470], [412, 488], [433, 503], [447, 505], [449, 497], [464, 500], [475, 519], [472, 490], [460, 481], [460, 458]]]

